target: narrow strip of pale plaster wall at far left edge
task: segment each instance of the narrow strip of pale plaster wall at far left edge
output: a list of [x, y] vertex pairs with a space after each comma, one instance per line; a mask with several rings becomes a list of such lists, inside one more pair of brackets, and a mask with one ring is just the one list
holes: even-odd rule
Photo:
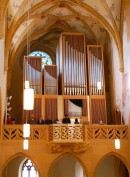
[[7, 72], [4, 72], [4, 40], [0, 39], [0, 88], [2, 95], [2, 119], [5, 113], [5, 100], [7, 88]]

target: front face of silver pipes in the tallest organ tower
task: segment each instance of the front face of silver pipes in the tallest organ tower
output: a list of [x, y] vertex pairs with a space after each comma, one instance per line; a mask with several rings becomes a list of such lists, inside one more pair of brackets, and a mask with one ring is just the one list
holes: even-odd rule
[[64, 94], [86, 94], [86, 66], [83, 36], [63, 36]]

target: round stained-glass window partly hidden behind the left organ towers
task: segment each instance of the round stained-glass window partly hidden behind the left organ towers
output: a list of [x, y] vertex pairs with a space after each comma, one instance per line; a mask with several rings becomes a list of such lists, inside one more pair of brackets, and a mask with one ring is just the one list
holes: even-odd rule
[[51, 57], [42, 51], [34, 51], [29, 54], [29, 56], [40, 56], [42, 57], [42, 69], [44, 68], [44, 65], [52, 65], [52, 59]]

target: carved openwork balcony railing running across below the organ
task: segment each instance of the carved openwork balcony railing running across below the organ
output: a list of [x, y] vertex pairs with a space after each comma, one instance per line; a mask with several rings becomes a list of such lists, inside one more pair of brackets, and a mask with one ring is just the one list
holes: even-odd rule
[[[87, 139], [128, 139], [126, 125], [52, 124], [31, 125], [29, 140], [81, 142]], [[3, 125], [1, 140], [22, 140], [22, 125]]]

